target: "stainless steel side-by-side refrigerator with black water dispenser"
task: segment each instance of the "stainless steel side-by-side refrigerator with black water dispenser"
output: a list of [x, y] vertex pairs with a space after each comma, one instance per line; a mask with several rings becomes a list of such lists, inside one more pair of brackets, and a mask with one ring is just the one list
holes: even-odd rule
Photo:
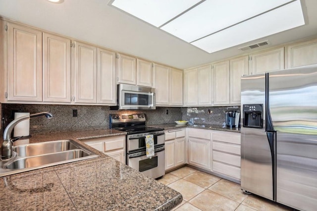
[[317, 65], [241, 78], [241, 188], [317, 210]]

